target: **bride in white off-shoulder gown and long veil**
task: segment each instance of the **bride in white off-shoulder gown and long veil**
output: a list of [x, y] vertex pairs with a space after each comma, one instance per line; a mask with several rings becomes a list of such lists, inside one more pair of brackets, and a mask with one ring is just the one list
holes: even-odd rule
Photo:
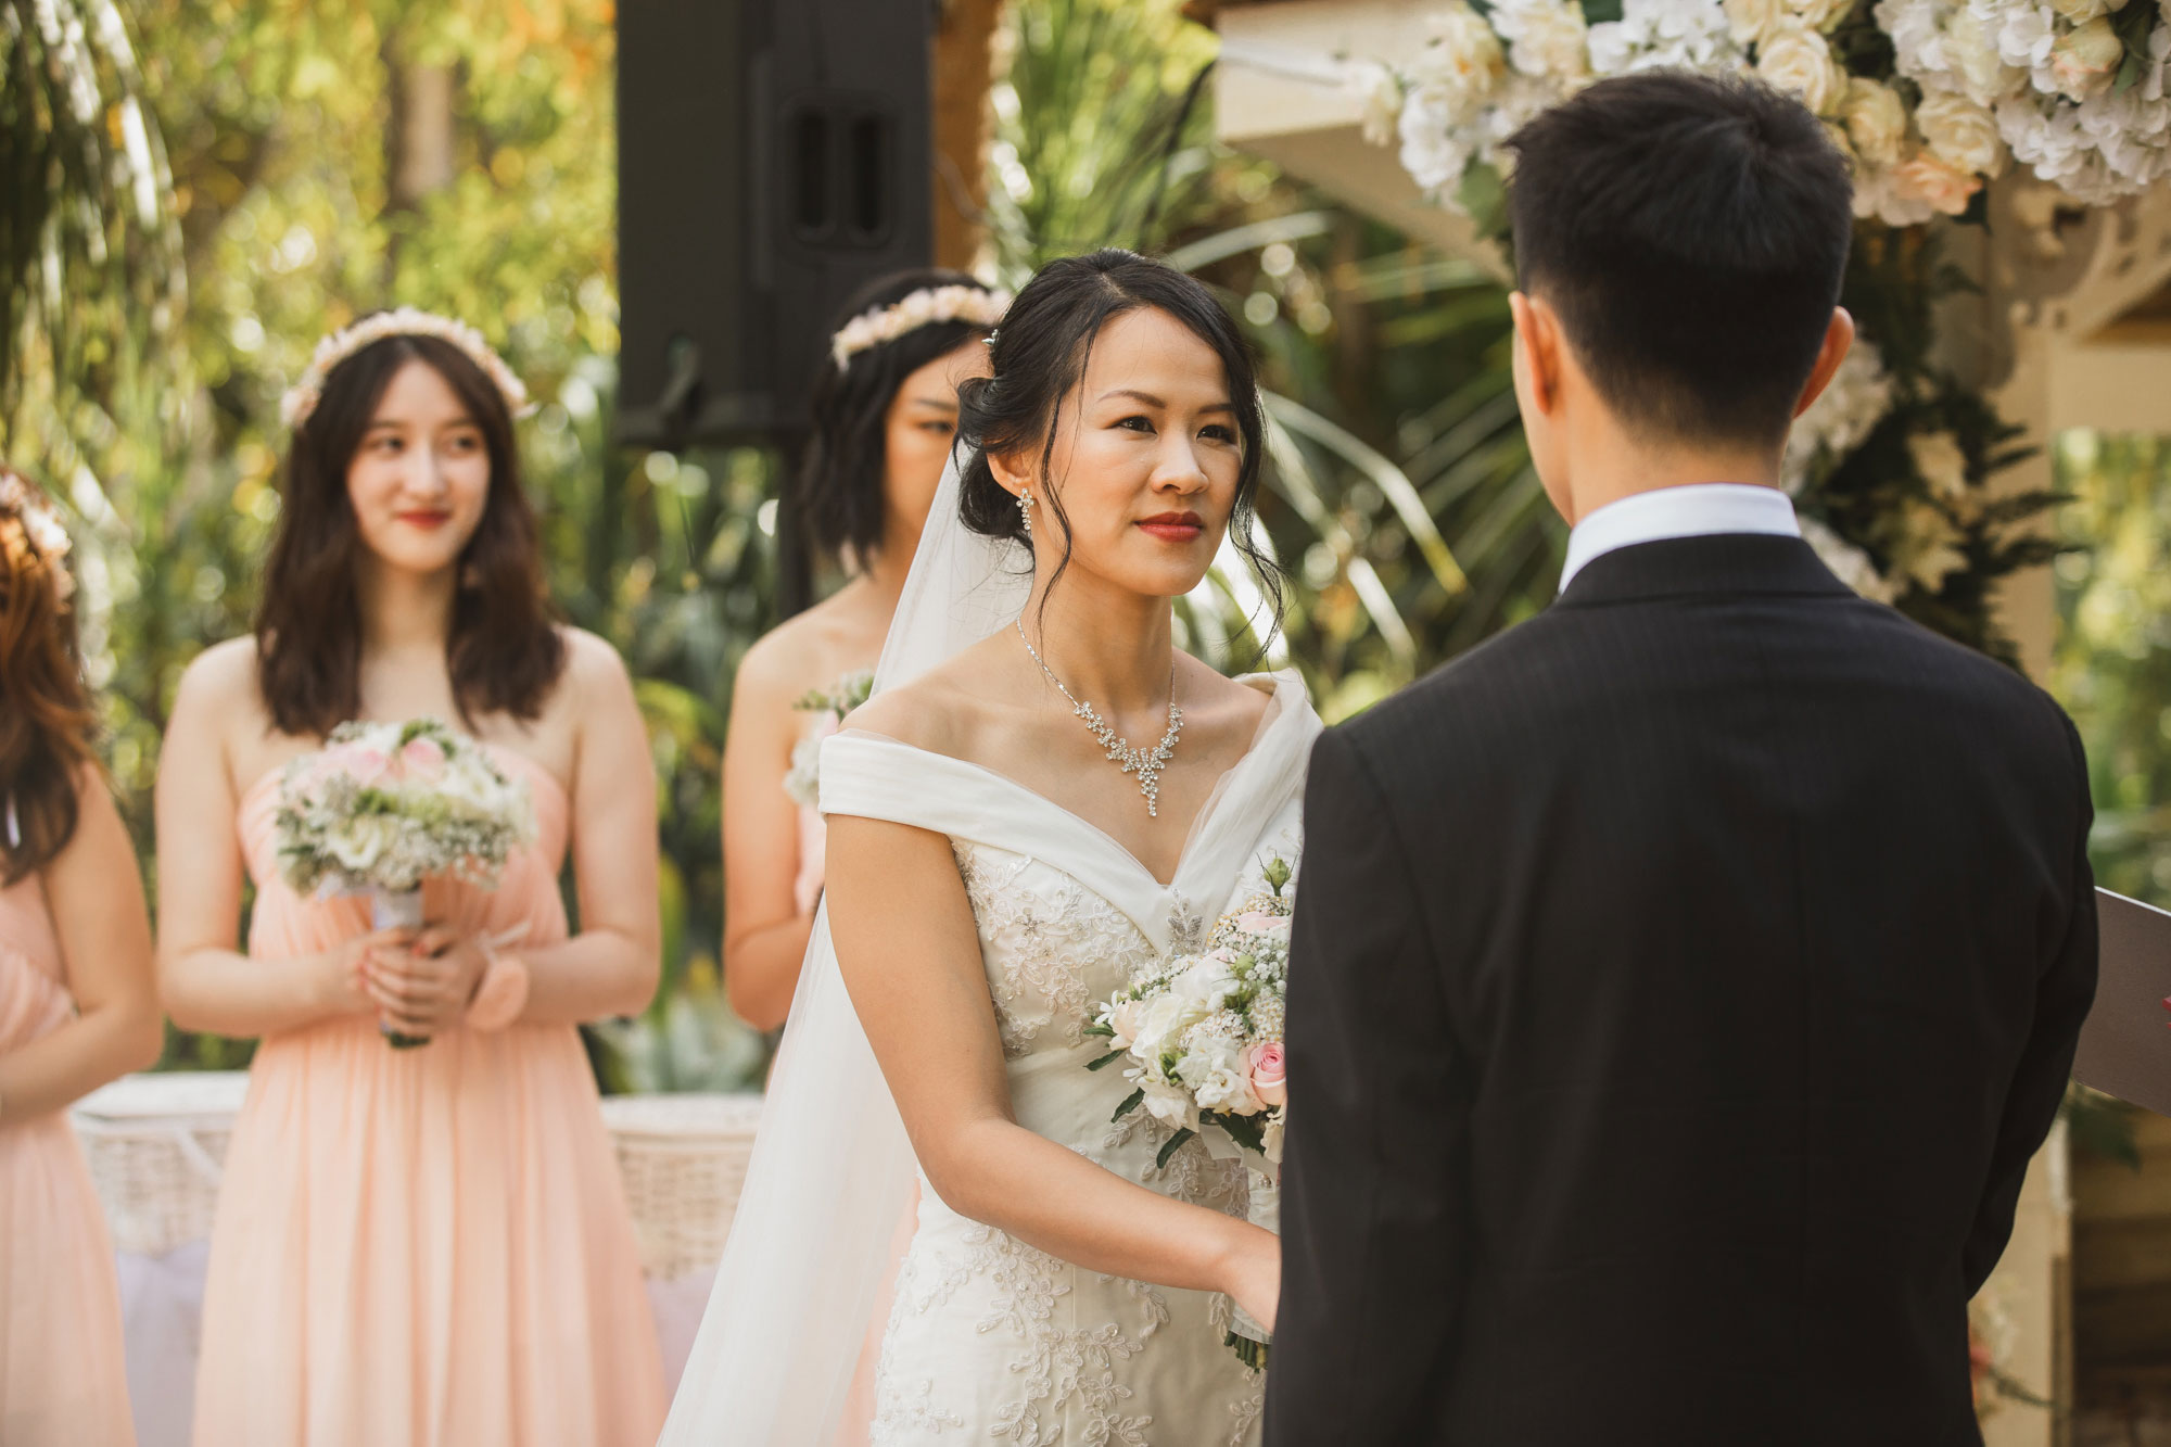
[[1205, 287], [1118, 250], [1044, 267], [990, 345], [877, 695], [823, 750], [825, 921], [664, 1443], [1257, 1438], [1222, 1330], [1229, 1299], [1272, 1323], [1279, 1243], [1240, 1162], [1112, 1123], [1131, 1082], [1083, 1034], [1296, 852], [1300, 682], [1172, 645], [1224, 541], [1259, 561], [1255, 378]]

